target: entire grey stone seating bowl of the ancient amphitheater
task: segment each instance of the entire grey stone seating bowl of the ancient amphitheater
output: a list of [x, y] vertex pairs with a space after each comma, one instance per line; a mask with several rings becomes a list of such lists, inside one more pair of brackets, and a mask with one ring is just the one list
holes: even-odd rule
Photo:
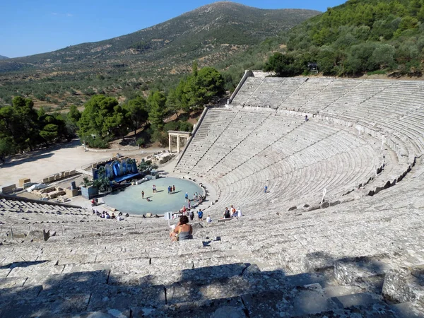
[[424, 317], [423, 141], [423, 81], [249, 71], [174, 172], [245, 216], [171, 244], [163, 220], [2, 199], [0, 317]]

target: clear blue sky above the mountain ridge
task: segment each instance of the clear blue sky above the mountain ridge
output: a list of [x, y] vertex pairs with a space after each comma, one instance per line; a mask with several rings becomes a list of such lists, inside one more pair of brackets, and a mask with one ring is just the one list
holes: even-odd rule
[[[23, 57], [148, 28], [215, 1], [2, 0], [0, 55]], [[340, 0], [240, 0], [257, 8], [326, 11]]]

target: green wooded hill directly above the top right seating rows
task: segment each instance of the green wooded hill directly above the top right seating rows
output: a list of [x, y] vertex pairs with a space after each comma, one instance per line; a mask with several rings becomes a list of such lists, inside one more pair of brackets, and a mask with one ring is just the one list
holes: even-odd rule
[[290, 76], [317, 62], [324, 75], [421, 76], [423, 21], [423, 0], [349, 0], [290, 30], [287, 54], [266, 69]]

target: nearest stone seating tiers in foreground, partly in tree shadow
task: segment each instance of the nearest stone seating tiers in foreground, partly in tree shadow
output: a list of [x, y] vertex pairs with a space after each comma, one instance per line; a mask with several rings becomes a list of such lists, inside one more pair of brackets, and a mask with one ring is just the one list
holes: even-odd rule
[[349, 206], [252, 211], [175, 244], [145, 220], [0, 246], [0, 315], [422, 317], [422, 285], [396, 283], [422, 279], [423, 201], [408, 185]]

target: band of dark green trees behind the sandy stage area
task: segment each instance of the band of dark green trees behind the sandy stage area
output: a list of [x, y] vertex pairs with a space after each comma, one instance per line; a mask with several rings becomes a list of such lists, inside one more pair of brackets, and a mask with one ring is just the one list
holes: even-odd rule
[[[79, 112], [72, 105], [67, 114], [36, 110], [30, 98], [16, 96], [12, 105], [0, 107], [0, 161], [8, 155], [33, 150], [51, 143], [70, 140], [77, 134], [90, 147], [107, 148], [114, 139], [145, 146], [158, 142], [167, 145], [167, 131], [192, 131], [187, 120], [199, 115], [203, 105], [225, 93], [221, 74], [211, 67], [198, 68], [179, 81], [177, 88], [165, 93], [152, 90], [147, 98], [136, 95], [119, 102], [117, 98], [94, 95]], [[134, 132], [134, 134], [133, 134]]]

